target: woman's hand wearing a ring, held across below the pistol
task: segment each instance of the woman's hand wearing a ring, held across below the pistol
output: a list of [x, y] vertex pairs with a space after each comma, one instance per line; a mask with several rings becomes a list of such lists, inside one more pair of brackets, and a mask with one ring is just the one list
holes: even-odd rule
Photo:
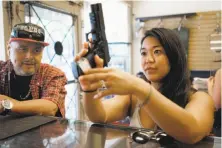
[[94, 98], [101, 98], [111, 94], [128, 95], [134, 92], [135, 81], [139, 78], [113, 68], [95, 68], [84, 72], [85, 74], [79, 78], [82, 89], [99, 90], [103, 84], [106, 89], [97, 91]]

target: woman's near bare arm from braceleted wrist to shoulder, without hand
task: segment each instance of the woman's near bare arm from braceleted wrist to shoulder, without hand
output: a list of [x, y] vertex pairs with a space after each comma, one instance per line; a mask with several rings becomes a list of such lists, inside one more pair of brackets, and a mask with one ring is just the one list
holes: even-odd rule
[[150, 95], [144, 108], [166, 133], [179, 141], [193, 144], [211, 132], [214, 106], [209, 95], [204, 92], [195, 93], [183, 109], [154, 88], [148, 92], [149, 84], [144, 83], [143, 86], [136, 88], [136, 95], [142, 101]]

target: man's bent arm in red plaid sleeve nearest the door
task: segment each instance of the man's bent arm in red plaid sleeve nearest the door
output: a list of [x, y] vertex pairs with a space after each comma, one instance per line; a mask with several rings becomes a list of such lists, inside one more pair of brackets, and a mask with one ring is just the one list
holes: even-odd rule
[[0, 95], [0, 100], [8, 99], [13, 103], [12, 112], [21, 114], [37, 114], [45, 116], [55, 116], [59, 110], [65, 117], [65, 96], [66, 96], [66, 78], [63, 73], [56, 71], [57, 75], [45, 77], [40, 99], [27, 101], [17, 101], [5, 95]]

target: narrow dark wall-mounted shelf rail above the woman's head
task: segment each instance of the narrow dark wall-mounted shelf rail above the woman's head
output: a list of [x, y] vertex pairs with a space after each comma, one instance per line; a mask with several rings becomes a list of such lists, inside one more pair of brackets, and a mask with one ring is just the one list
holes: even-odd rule
[[172, 17], [191, 17], [196, 15], [196, 13], [181, 13], [181, 14], [173, 14], [173, 15], [160, 15], [160, 16], [151, 16], [151, 17], [138, 17], [136, 20], [139, 20], [140, 22], [145, 22], [152, 19], [163, 19], [163, 18], [172, 18]]

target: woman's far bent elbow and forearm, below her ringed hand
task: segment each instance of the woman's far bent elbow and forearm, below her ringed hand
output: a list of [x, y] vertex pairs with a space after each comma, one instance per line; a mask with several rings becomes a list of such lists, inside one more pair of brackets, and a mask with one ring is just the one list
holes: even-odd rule
[[126, 117], [130, 105], [128, 95], [107, 100], [93, 99], [94, 95], [95, 93], [83, 94], [83, 107], [90, 121], [109, 123]]

